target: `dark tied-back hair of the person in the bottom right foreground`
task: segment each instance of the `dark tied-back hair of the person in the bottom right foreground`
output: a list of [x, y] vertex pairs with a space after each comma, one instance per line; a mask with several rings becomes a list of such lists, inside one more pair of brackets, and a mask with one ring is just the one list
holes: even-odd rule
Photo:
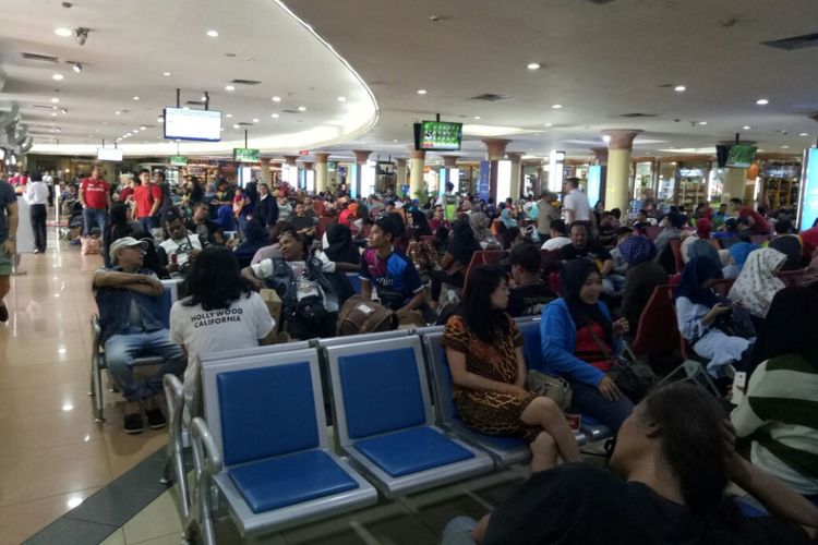
[[730, 481], [724, 409], [705, 389], [687, 383], [659, 388], [642, 404], [642, 422], [659, 431], [662, 458], [706, 543], [733, 543], [730, 530], [741, 514], [724, 496]]

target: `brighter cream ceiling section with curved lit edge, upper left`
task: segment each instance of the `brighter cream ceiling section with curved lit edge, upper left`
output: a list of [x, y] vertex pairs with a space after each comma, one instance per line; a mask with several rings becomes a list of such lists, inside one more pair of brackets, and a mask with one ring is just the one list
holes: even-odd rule
[[[92, 29], [84, 46], [55, 34], [79, 26]], [[209, 29], [219, 36], [208, 37]], [[59, 57], [59, 63], [26, 60], [22, 52]], [[82, 73], [68, 61], [81, 62]], [[234, 123], [250, 124], [251, 147], [297, 152], [348, 141], [377, 117], [354, 72], [273, 0], [79, 0], [70, 9], [56, 0], [3, 0], [0, 63], [8, 78], [0, 110], [21, 106], [38, 153], [95, 155], [103, 138], [110, 146], [145, 126], [119, 144], [127, 155], [176, 154], [157, 118], [176, 105], [177, 87], [182, 105], [208, 92], [210, 109], [230, 116], [224, 118], [222, 142], [181, 143], [180, 152], [189, 155], [243, 147], [245, 126], [237, 130]], [[53, 81], [55, 73], [64, 80]], [[234, 78], [261, 84], [226, 90]], [[53, 97], [59, 104], [52, 105]]]

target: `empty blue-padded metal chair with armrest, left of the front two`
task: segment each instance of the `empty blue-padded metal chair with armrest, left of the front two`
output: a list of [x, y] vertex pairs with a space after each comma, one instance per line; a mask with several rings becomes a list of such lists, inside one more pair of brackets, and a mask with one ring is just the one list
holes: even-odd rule
[[205, 365], [202, 383], [207, 424], [191, 425], [199, 509], [187, 532], [213, 535], [210, 482], [242, 536], [377, 501], [329, 450], [314, 349]]

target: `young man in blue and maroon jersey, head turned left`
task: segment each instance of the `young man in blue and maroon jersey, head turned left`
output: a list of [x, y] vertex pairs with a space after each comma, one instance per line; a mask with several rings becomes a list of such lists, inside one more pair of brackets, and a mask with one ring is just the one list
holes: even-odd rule
[[390, 217], [383, 217], [372, 226], [370, 247], [361, 258], [361, 294], [372, 299], [374, 286], [384, 306], [394, 311], [416, 311], [425, 305], [426, 295], [418, 269], [393, 247], [399, 235], [400, 226]]

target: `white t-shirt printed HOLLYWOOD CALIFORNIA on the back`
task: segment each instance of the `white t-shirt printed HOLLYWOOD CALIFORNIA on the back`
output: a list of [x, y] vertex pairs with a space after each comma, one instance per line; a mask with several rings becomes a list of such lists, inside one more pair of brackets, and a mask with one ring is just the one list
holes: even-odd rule
[[185, 306], [185, 298], [170, 308], [170, 340], [188, 351], [184, 370], [184, 398], [192, 403], [199, 387], [199, 356], [258, 346], [275, 326], [261, 295], [251, 292], [233, 301], [229, 308], [204, 311], [202, 305]]

